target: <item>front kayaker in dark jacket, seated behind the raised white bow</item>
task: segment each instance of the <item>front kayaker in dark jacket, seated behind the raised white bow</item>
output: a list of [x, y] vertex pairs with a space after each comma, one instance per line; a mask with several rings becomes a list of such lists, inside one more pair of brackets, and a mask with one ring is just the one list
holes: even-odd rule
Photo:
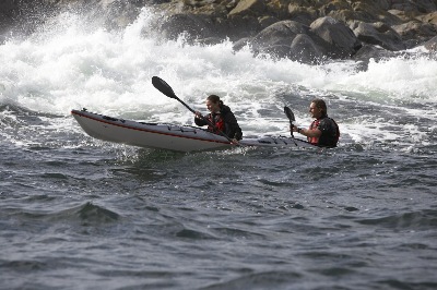
[[218, 96], [210, 95], [206, 98], [206, 109], [210, 113], [205, 117], [196, 111], [194, 123], [199, 126], [208, 125], [209, 131], [218, 135], [223, 132], [232, 143], [238, 144], [243, 132], [231, 108], [225, 106]]

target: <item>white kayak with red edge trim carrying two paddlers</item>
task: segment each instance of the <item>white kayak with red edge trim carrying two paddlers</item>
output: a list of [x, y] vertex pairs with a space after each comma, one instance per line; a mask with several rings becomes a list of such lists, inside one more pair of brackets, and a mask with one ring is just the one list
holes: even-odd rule
[[[92, 137], [146, 148], [176, 152], [213, 150], [235, 147], [222, 136], [190, 125], [135, 122], [94, 112], [72, 110], [74, 119]], [[317, 147], [310, 143], [286, 136], [248, 137], [240, 146], [258, 147]]]

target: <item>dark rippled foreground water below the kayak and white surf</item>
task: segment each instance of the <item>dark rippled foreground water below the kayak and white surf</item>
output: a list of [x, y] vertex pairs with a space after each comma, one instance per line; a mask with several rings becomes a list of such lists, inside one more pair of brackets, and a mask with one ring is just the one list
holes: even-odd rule
[[437, 288], [433, 144], [179, 154], [2, 112], [2, 289]]

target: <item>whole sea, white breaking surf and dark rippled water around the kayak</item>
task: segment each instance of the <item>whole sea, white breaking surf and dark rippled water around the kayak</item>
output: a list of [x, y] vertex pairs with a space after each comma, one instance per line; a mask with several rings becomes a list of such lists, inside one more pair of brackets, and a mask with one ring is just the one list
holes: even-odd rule
[[[1, 289], [437, 287], [435, 58], [277, 62], [162, 41], [153, 20], [66, 13], [0, 46]], [[199, 110], [221, 95], [245, 135], [288, 134], [284, 105], [308, 125], [322, 96], [341, 145], [180, 154], [93, 140], [70, 116], [191, 124], [153, 75]]]

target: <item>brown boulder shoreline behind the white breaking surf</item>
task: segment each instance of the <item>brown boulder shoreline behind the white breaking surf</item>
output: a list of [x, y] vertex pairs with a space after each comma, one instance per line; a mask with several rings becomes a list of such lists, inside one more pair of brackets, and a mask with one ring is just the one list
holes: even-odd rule
[[417, 46], [437, 51], [437, 0], [3, 0], [0, 34], [66, 9], [94, 11], [120, 28], [144, 5], [165, 15], [156, 26], [165, 38], [229, 39], [235, 50], [250, 45], [255, 55], [306, 63], [382, 58]]

